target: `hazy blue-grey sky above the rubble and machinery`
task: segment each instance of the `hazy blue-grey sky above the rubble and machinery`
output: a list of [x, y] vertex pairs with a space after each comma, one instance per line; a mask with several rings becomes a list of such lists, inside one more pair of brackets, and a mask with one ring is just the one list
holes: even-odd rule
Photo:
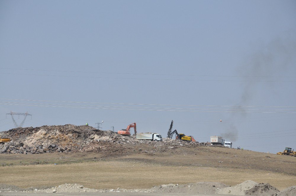
[[10, 111], [163, 137], [174, 120], [200, 142], [275, 153], [296, 148], [295, 62], [296, 1], [2, 0], [0, 130]]

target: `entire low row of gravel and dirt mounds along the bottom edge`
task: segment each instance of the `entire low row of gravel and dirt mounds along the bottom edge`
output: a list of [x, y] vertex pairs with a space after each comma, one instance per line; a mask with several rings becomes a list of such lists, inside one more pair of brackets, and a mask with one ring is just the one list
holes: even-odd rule
[[281, 192], [270, 184], [256, 183], [247, 180], [242, 184], [229, 187], [220, 182], [197, 182], [189, 184], [163, 184], [150, 189], [90, 189], [80, 184], [62, 184], [56, 187], [30, 187], [21, 189], [17, 186], [0, 184], [0, 192], [142, 192], [142, 193], [180, 193], [180, 194], [224, 194], [224, 195], [262, 195], [262, 196], [294, 196], [296, 186], [289, 187]]

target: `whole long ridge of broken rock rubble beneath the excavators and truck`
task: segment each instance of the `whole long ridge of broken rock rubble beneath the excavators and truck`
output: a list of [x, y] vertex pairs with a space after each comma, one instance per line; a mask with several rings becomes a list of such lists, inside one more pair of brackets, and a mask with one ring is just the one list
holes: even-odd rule
[[54, 125], [16, 128], [0, 132], [0, 137], [11, 138], [0, 144], [0, 153], [40, 154], [50, 152], [97, 151], [102, 149], [130, 148], [146, 144], [154, 148], [161, 146], [205, 146], [207, 143], [186, 142], [164, 138], [163, 142], [137, 140], [135, 136], [118, 135], [113, 131], [102, 131], [87, 125]]

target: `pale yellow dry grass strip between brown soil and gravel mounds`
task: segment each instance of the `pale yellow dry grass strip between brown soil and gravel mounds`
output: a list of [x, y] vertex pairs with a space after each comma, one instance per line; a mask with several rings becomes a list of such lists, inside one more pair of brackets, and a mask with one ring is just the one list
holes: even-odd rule
[[83, 184], [95, 189], [118, 187], [151, 188], [160, 184], [186, 184], [192, 182], [223, 182], [229, 185], [245, 180], [268, 182], [284, 189], [295, 184], [295, 176], [267, 173], [250, 169], [223, 170], [199, 166], [163, 166], [134, 161], [98, 161], [93, 163], [61, 165], [29, 165], [2, 167], [1, 173], [8, 174], [0, 183], [19, 187], [57, 186], [60, 184]]

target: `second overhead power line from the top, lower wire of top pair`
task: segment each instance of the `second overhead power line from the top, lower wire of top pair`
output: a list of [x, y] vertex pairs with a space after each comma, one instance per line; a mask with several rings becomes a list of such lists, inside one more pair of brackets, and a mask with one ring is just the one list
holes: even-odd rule
[[54, 76], [54, 77], [72, 77], [72, 78], [102, 78], [102, 79], [126, 79], [126, 80], [166, 80], [166, 81], [217, 81], [217, 82], [296, 82], [296, 81], [280, 81], [280, 80], [205, 80], [205, 79], [164, 79], [164, 78], [121, 78], [121, 77], [103, 77], [103, 76], [62, 76], [48, 74], [15, 74], [15, 73], [0, 73], [10, 75], [23, 76]]

